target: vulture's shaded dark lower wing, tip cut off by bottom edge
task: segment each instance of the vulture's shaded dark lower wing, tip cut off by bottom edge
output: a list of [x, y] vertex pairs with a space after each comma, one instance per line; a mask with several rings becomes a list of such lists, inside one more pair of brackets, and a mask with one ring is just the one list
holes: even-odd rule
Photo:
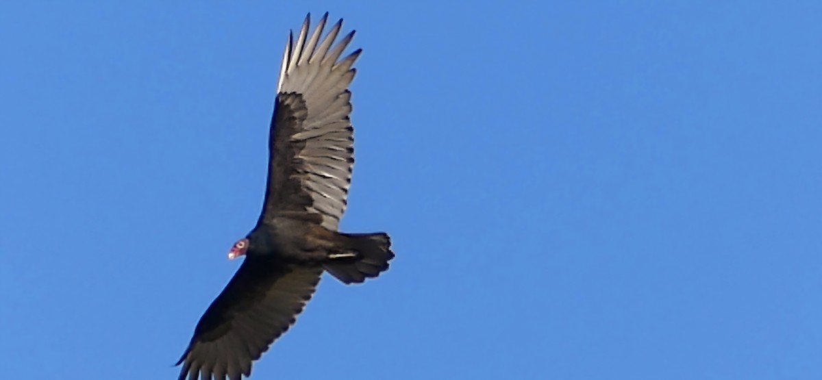
[[197, 322], [178, 361], [188, 376], [239, 380], [252, 361], [294, 323], [320, 281], [321, 267], [295, 266], [272, 257], [248, 256]]

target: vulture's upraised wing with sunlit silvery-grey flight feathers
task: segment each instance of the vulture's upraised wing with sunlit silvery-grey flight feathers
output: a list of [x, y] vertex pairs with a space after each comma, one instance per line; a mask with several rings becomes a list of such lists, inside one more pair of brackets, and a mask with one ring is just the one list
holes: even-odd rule
[[340, 59], [351, 31], [335, 44], [337, 21], [320, 39], [328, 13], [309, 36], [309, 16], [295, 41], [289, 35], [271, 118], [266, 201], [259, 222], [279, 213], [314, 214], [335, 230], [345, 211], [353, 168], [351, 91], [361, 49]]

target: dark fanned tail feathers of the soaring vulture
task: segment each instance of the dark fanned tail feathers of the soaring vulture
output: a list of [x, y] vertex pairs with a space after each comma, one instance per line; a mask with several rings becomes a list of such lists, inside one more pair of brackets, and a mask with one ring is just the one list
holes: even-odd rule
[[388, 234], [339, 234], [346, 241], [346, 248], [355, 253], [351, 257], [330, 259], [323, 266], [332, 276], [344, 284], [363, 282], [379, 276], [388, 269], [394, 258]]

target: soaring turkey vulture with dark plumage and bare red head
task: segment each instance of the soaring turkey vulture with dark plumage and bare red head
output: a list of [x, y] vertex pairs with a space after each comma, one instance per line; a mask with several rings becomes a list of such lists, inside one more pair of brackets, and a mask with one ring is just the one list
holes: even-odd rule
[[326, 12], [308, 35], [310, 16], [285, 46], [260, 218], [229, 251], [229, 259], [245, 259], [197, 322], [177, 363], [180, 380], [250, 376], [252, 361], [291, 327], [323, 271], [360, 283], [386, 271], [394, 257], [388, 234], [337, 231], [353, 167], [348, 88], [362, 50], [340, 59], [354, 32], [333, 44], [339, 20], [321, 39]]

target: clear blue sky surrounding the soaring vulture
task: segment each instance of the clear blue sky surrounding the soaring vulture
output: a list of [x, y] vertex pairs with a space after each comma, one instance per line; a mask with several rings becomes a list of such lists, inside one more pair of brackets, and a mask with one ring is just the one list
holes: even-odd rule
[[822, 5], [707, 1], [4, 3], [4, 378], [177, 376], [325, 11], [397, 257], [253, 378], [822, 378]]

